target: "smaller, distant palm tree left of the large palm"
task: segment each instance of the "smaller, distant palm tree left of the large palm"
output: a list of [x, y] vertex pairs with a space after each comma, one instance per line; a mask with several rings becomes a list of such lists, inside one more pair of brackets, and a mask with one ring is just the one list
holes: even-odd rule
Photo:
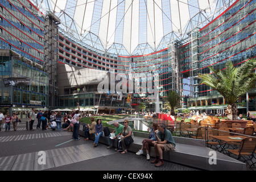
[[174, 109], [180, 105], [180, 94], [176, 91], [169, 91], [167, 97], [164, 97], [166, 101], [166, 107], [171, 109], [171, 115], [175, 115]]

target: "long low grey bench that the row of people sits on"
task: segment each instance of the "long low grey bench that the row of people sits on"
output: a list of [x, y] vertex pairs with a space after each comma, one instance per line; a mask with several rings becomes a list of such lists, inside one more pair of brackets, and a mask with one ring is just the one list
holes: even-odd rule
[[[80, 124], [79, 135], [85, 137], [84, 131], [82, 131], [82, 123]], [[110, 132], [113, 129], [110, 128]], [[143, 139], [148, 138], [147, 133], [134, 132], [134, 142], [127, 148], [130, 152], [138, 152], [142, 147]], [[89, 139], [94, 140], [94, 134], [89, 135]], [[205, 146], [205, 140], [191, 139], [183, 137], [174, 137], [176, 147], [174, 151], [163, 152], [163, 159], [169, 162], [183, 164], [194, 168], [216, 171], [244, 171], [246, 170], [246, 164], [239, 160], [233, 159], [220, 152], [214, 151], [211, 148]], [[108, 137], [102, 135], [99, 143], [106, 144], [108, 146]], [[116, 142], [113, 142], [115, 145]], [[115, 146], [114, 146], [115, 147]], [[106, 149], [107, 150], [107, 149]], [[212, 154], [213, 152], [213, 154]], [[151, 158], [155, 157], [154, 147], [149, 150]], [[146, 151], [144, 154], [146, 155]], [[215, 158], [216, 157], [216, 158]], [[146, 157], [145, 157], [146, 160]], [[210, 162], [216, 161], [216, 164]]]

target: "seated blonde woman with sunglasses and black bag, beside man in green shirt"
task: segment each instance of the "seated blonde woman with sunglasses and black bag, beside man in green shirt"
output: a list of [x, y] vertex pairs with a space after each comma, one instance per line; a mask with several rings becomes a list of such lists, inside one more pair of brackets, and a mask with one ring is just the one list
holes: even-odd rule
[[[133, 130], [131, 129], [131, 127], [128, 125], [129, 121], [127, 119], [125, 119], [125, 121], [123, 121], [123, 125], [125, 125], [123, 127], [122, 133], [120, 135], [120, 140], [119, 143], [122, 143], [122, 152], [121, 154], [126, 154], [127, 153], [127, 146], [133, 142], [134, 136], [133, 136]], [[128, 138], [132, 138], [132, 140], [128, 140]], [[118, 150], [119, 152], [120, 150]]]

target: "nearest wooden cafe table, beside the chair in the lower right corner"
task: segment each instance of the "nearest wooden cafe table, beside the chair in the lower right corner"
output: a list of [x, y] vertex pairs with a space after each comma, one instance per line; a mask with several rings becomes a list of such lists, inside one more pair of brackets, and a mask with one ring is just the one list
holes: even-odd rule
[[[242, 142], [242, 140], [248, 136], [243, 135], [233, 135], [233, 136], [215, 136], [215, 135], [209, 135], [209, 137], [212, 137], [214, 139], [218, 140], [218, 143], [221, 146], [221, 151], [225, 150], [226, 144], [230, 142], [239, 143]], [[221, 142], [222, 141], [222, 142]]]

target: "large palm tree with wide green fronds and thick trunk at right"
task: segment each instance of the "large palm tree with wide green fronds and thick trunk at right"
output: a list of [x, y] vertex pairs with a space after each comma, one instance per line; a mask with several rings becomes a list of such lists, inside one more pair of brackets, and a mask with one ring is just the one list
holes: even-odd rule
[[228, 119], [237, 120], [237, 106], [238, 98], [247, 91], [255, 88], [256, 60], [251, 59], [246, 61], [240, 67], [234, 67], [232, 61], [226, 63], [226, 68], [222, 71], [220, 69], [214, 70], [209, 67], [213, 74], [201, 74], [201, 83], [204, 83], [214, 90], [217, 90], [228, 102], [225, 113]]

